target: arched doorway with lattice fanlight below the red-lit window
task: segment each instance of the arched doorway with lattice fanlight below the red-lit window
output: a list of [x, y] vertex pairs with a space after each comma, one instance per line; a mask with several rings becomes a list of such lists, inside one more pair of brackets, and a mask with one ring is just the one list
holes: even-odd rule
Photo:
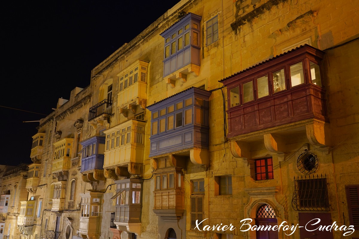
[[[271, 227], [274, 225], [278, 225], [275, 211], [268, 204], [261, 205], [256, 213], [256, 225], [263, 225], [266, 227], [270, 225]], [[257, 239], [278, 239], [278, 231], [272, 230], [258, 230], [256, 231]]]

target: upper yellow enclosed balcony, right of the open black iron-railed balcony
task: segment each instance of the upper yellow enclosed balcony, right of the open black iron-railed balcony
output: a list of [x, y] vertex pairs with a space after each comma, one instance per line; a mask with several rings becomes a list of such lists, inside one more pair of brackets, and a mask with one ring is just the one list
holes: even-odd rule
[[127, 110], [136, 114], [137, 105], [142, 109], [146, 107], [147, 76], [148, 62], [141, 60], [135, 61], [117, 75], [120, 84], [117, 102], [124, 115]]

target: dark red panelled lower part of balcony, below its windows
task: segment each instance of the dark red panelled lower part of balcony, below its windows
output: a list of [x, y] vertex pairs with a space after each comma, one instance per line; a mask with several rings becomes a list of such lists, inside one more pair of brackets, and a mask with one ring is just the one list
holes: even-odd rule
[[305, 119], [328, 121], [325, 90], [309, 84], [233, 107], [227, 113], [228, 137]]

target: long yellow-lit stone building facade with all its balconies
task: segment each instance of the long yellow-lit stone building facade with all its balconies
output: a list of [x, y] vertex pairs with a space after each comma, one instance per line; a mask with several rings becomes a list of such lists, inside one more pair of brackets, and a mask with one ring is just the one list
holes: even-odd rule
[[358, 8], [180, 1], [40, 121], [3, 238], [359, 238]]

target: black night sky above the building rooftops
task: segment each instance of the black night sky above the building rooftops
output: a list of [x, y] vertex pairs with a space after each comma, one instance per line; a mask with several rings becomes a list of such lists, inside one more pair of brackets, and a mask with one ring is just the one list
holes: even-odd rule
[[39, 122], [179, 0], [1, 3], [0, 164], [31, 163]]

